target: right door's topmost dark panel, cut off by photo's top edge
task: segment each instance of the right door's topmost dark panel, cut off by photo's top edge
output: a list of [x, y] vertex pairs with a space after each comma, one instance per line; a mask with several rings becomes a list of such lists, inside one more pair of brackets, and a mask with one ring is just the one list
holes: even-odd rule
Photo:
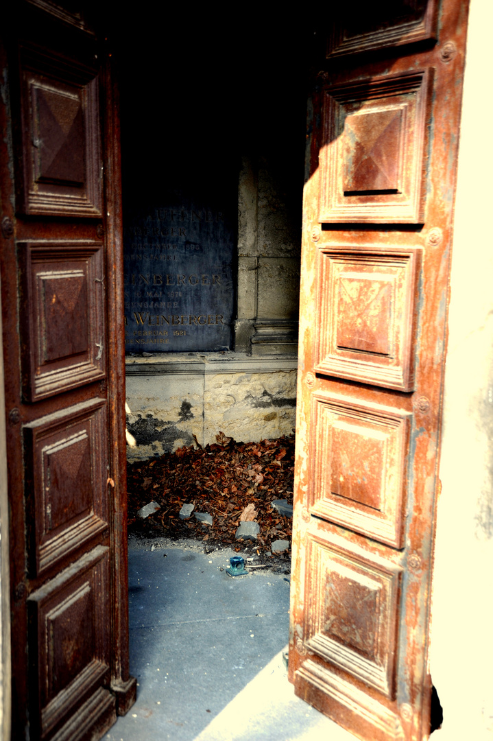
[[437, 38], [437, 0], [380, 0], [358, 12], [338, 6], [327, 58]]

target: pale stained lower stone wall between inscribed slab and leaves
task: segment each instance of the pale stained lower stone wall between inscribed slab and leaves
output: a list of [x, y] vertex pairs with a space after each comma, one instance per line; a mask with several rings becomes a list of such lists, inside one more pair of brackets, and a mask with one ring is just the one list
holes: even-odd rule
[[182, 445], [272, 439], [295, 428], [296, 359], [241, 353], [163, 353], [127, 359], [130, 461]]

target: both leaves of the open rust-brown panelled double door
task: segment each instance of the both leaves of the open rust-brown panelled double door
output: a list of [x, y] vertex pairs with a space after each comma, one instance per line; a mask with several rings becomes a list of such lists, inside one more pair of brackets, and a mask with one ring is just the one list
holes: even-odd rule
[[[76, 5], [19, 1], [0, 48], [12, 737], [46, 741], [101, 736], [135, 697], [118, 105], [98, 16]], [[467, 10], [349, 6], [321, 18], [317, 36], [289, 674], [368, 741], [429, 731]]]

